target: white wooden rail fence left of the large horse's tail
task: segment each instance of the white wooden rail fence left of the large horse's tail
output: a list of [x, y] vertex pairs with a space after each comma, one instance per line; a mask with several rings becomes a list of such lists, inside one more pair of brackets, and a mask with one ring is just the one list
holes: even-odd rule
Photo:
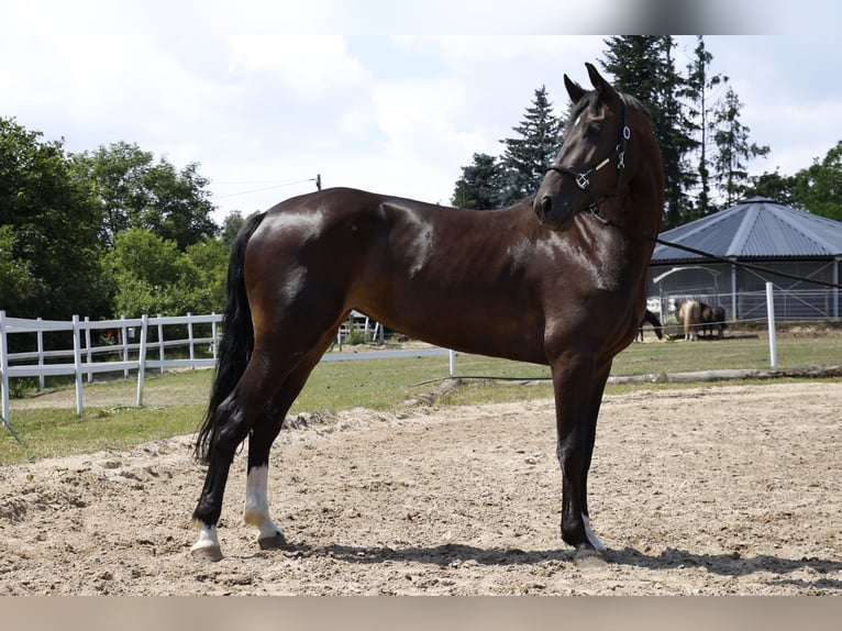
[[[130, 370], [137, 370], [137, 406], [143, 405], [143, 379], [146, 370], [166, 368], [214, 366], [217, 363], [217, 347], [220, 334], [219, 324], [222, 316], [180, 316], [149, 318], [120, 318], [119, 320], [100, 320], [91, 322], [88, 318], [80, 320], [74, 316], [73, 320], [25, 320], [22, 318], [8, 318], [5, 311], [0, 311], [0, 398], [2, 399], [2, 421], [9, 425], [9, 380], [13, 377], [38, 377], [41, 387], [44, 387], [44, 377], [56, 375], [71, 375], [76, 380], [76, 411], [81, 413], [85, 409], [82, 402], [82, 378], [87, 375], [89, 381], [95, 374], [123, 373], [129, 377]], [[195, 337], [195, 324], [210, 324], [210, 337]], [[171, 325], [187, 325], [187, 337], [182, 340], [166, 340], [164, 328]], [[157, 341], [147, 343], [149, 328], [157, 328]], [[66, 331], [73, 332], [73, 348], [45, 351], [44, 333]], [[95, 332], [119, 332], [119, 343], [95, 346], [91, 337], [98, 340], [100, 335], [92, 336]], [[35, 334], [37, 350], [29, 353], [9, 353], [9, 336], [15, 334]], [[137, 339], [136, 343], [130, 343], [130, 339]], [[198, 357], [197, 347], [204, 345], [210, 347], [211, 357]], [[166, 348], [175, 346], [187, 347], [187, 358], [167, 359]], [[158, 358], [149, 359], [149, 351], [157, 350]], [[113, 355], [118, 353], [121, 361], [96, 362], [95, 356], [101, 354]], [[134, 358], [130, 358], [134, 357]], [[47, 363], [47, 359], [51, 362]], [[56, 359], [58, 359], [56, 362]], [[62, 361], [66, 359], [66, 361]]]

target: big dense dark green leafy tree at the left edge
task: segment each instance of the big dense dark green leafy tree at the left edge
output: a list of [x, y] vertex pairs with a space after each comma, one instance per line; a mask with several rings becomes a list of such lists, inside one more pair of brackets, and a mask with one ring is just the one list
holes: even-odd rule
[[0, 119], [0, 226], [10, 226], [2, 258], [22, 274], [0, 308], [53, 319], [107, 311], [100, 224], [89, 182], [71, 168], [63, 141]]

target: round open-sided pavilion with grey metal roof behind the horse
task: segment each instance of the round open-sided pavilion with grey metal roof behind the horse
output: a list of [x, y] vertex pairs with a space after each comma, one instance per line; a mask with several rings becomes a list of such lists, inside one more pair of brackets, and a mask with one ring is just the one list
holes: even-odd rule
[[[663, 244], [655, 246], [649, 272], [649, 296], [701, 299], [730, 307], [729, 319], [765, 317], [763, 287], [773, 281], [780, 299], [776, 318], [839, 318], [838, 285], [842, 261], [842, 222], [753, 197], [708, 217], [679, 225], [661, 239], [708, 252], [731, 264]], [[762, 265], [795, 275], [794, 280], [735, 265]], [[662, 310], [663, 312], [663, 310]]]

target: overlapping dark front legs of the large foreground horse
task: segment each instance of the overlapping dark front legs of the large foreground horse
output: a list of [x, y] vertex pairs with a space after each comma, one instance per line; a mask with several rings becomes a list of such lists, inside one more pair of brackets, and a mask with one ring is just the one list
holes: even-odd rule
[[562, 467], [562, 539], [576, 549], [576, 561], [606, 550], [590, 527], [588, 471], [597, 416], [610, 370], [595, 365], [588, 353], [567, 354], [553, 364], [557, 456]]

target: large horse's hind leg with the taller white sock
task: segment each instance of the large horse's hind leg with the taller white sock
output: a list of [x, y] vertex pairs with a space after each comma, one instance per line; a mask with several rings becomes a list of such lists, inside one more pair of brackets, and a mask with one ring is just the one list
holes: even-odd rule
[[263, 419], [255, 424], [248, 438], [248, 476], [245, 491], [243, 520], [257, 528], [257, 543], [263, 550], [284, 547], [287, 540], [269, 514], [268, 478], [269, 451], [275, 442], [289, 408], [307, 383], [323, 348], [311, 358], [301, 362], [281, 384]]

